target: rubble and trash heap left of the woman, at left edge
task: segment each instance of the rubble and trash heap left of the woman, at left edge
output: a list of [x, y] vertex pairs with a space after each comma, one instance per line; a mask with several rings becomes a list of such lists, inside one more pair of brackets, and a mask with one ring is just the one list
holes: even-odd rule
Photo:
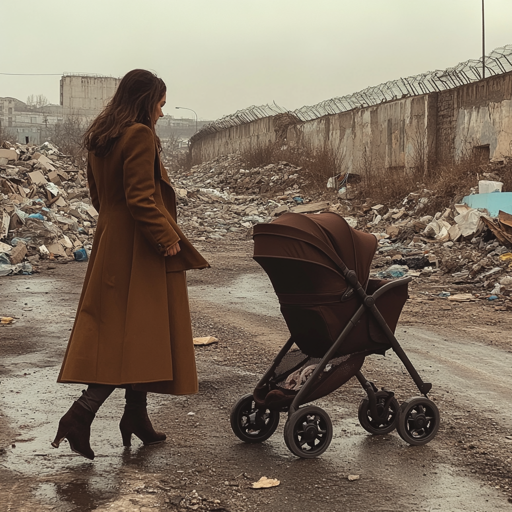
[[32, 273], [41, 260], [87, 260], [97, 217], [86, 173], [50, 142], [2, 144], [0, 275]]

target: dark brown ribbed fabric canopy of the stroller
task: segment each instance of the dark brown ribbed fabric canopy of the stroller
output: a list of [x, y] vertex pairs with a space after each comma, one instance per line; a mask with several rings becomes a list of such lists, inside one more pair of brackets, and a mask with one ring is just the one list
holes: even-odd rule
[[363, 287], [377, 248], [373, 234], [352, 229], [335, 213], [284, 214], [254, 226], [254, 260], [269, 275], [275, 292], [342, 292], [347, 284], [340, 265], [357, 274]]

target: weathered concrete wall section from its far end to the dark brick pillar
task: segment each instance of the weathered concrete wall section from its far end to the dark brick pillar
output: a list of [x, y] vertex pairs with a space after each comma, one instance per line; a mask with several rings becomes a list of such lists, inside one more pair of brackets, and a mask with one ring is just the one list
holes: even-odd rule
[[211, 160], [218, 155], [244, 151], [254, 144], [278, 141], [295, 147], [330, 146], [344, 170], [361, 172], [364, 168], [418, 165], [428, 157], [432, 145], [432, 127], [426, 113], [429, 97], [404, 98], [364, 109], [324, 116], [290, 125], [286, 140], [274, 127], [275, 117], [266, 117], [195, 141], [195, 161]]

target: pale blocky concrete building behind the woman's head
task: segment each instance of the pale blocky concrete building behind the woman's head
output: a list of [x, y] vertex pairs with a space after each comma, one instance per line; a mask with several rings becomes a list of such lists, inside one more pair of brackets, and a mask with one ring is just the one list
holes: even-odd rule
[[65, 114], [98, 114], [116, 92], [120, 78], [64, 75], [60, 79], [60, 104]]

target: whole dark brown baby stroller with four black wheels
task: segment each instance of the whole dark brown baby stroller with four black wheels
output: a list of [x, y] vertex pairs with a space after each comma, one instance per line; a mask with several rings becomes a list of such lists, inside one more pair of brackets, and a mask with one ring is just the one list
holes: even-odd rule
[[[412, 278], [369, 279], [377, 248], [372, 234], [352, 229], [334, 213], [284, 214], [254, 226], [254, 260], [268, 274], [281, 305], [290, 338], [258, 382], [230, 415], [234, 434], [262, 442], [287, 412], [284, 439], [298, 457], [325, 452], [332, 439], [329, 415], [308, 402], [332, 393], [353, 376], [367, 396], [359, 404], [361, 426], [371, 434], [395, 428], [409, 444], [431, 441], [439, 411], [394, 331]], [[393, 391], [380, 391], [361, 373], [365, 357], [392, 349], [422, 396], [401, 405]]]

